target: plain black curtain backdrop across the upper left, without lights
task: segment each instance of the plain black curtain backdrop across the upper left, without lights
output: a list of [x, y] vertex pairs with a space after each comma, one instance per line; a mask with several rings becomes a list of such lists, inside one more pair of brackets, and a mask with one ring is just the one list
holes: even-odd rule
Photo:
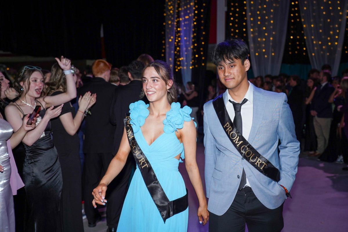
[[161, 58], [165, 0], [8, 1], [1, 7], [0, 50], [18, 55], [101, 58], [128, 65], [142, 53]]

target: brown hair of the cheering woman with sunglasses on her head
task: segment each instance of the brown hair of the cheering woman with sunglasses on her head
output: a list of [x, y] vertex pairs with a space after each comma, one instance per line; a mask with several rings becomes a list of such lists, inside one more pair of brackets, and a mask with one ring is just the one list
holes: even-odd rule
[[[33, 67], [33, 66], [30, 66]], [[30, 77], [34, 72], [39, 72], [42, 75], [42, 78], [44, 77], [44, 74], [42, 74], [41, 69], [40, 68], [33, 68], [33, 69], [28, 69], [27, 66], [22, 67], [17, 75], [16, 78], [13, 82], [13, 88], [19, 93], [19, 96], [25, 95], [29, 89], [30, 89]], [[24, 87], [21, 86], [21, 82], [23, 82], [23, 84], [26, 82], [28, 89], [26, 89], [26, 91], [24, 91]], [[41, 96], [45, 96], [46, 95], [46, 91], [45, 88], [42, 88], [41, 91]]]

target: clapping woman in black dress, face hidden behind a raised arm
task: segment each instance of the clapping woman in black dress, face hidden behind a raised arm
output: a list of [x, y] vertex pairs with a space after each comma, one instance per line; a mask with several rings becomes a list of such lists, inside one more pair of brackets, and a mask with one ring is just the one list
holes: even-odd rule
[[[73, 77], [74, 81], [76, 81], [75, 72], [73, 73]], [[65, 75], [58, 64], [52, 66], [50, 80], [46, 85], [47, 95], [49, 96], [57, 96], [66, 92]], [[79, 156], [80, 141], [76, 131], [85, 117], [86, 110], [95, 101], [96, 95], [91, 95], [90, 92], [87, 92], [83, 97], [79, 97], [79, 109], [77, 113], [75, 113], [75, 108], [68, 101], [64, 103], [60, 116], [51, 120], [53, 143], [58, 151], [63, 176], [60, 216], [64, 232], [84, 231], [81, 211], [82, 179]]]

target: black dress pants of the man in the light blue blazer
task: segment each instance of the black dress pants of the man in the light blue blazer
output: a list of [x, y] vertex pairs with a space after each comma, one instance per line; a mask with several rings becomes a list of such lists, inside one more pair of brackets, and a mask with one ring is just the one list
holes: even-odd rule
[[284, 227], [283, 204], [268, 209], [251, 187], [244, 187], [237, 191], [226, 213], [218, 216], [209, 212], [209, 232], [244, 232], [245, 223], [249, 232], [279, 232]]

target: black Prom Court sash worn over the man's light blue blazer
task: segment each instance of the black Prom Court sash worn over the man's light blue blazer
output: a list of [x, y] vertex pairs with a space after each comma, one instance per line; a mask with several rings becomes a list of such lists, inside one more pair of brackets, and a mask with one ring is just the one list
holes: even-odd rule
[[279, 170], [264, 158], [256, 149], [239, 133], [237, 128], [228, 115], [222, 95], [216, 97], [213, 106], [219, 118], [223, 130], [230, 139], [231, 143], [236, 147], [242, 157], [247, 160], [260, 173], [271, 178], [273, 181], [280, 180]]

